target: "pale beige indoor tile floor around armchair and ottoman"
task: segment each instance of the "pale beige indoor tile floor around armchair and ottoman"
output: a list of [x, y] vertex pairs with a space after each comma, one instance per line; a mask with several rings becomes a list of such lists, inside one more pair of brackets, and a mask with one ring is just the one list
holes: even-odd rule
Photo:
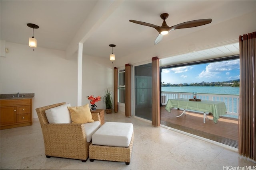
[[121, 113], [105, 114], [105, 121], [134, 125], [134, 146], [130, 165], [95, 160], [81, 162], [46, 158], [39, 121], [32, 126], [1, 130], [0, 169], [130, 169], [130, 170], [231, 170], [256, 169], [252, 160], [236, 149], [203, 141], [165, 127]]

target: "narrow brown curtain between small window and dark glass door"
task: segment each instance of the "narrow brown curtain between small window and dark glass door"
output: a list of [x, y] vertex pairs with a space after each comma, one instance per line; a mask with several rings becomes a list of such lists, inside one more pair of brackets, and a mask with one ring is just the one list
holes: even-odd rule
[[125, 64], [125, 116], [131, 117], [131, 64]]

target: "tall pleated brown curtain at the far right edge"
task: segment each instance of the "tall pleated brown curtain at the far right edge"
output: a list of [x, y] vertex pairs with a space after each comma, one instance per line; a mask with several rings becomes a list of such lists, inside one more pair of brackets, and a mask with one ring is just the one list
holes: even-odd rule
[[256, 160], [256, 32], [239, 36], [240, 113], [238, 152]]

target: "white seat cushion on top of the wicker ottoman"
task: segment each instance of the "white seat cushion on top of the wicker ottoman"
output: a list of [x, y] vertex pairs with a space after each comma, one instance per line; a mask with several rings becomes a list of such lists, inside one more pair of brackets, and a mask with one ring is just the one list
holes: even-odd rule
[[128, 147], [132, 139], [132, 123], [106, 122], [92, 135], [92, 144]]

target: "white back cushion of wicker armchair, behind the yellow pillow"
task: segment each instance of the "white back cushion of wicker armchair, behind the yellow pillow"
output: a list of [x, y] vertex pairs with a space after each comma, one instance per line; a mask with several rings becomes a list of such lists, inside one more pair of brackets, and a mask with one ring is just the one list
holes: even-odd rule
[[70, 113], [68, 111], [69, 104], [53, 107], [45, 111], [49, 123], [71, 123]]

